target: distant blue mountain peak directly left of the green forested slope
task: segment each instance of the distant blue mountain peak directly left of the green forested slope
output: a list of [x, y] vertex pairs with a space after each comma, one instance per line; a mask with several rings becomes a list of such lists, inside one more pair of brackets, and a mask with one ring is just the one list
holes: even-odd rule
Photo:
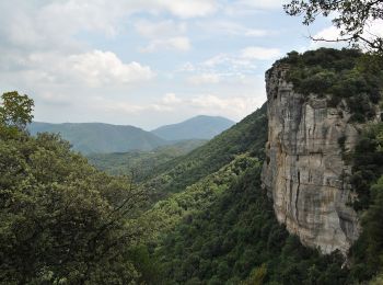
[[196, 116], [178, 124], [166, 125], [151, 133], [167, 140], [211, 139], [235, 122], [219, 116]]

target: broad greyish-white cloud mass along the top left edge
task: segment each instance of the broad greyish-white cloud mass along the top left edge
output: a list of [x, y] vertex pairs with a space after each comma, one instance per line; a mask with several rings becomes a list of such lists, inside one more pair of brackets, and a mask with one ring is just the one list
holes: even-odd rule
[[138, 12], [187, 19], [217, 9], [214, 0], [0, 1], [0, 38], [24, 49], [79, 48], [83, 43], [73, 36], [80, 32], [116, 36], [120, 20]]

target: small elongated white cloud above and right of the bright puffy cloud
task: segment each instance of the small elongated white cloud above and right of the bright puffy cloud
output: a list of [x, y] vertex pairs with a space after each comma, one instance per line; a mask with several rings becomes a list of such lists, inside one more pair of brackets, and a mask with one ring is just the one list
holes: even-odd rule
[[153, 39], [144, 48], [142, 53], [154, 53], [158, 50], [179, 50], [188, 52], [192, 48], [190, 39], [186, 36], [170, 37], [164, 39]]

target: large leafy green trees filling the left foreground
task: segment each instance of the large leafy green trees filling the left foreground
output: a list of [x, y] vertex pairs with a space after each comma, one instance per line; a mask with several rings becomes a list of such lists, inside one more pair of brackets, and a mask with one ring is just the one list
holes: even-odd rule
[[95, 170], [56, 135], [4, 135], [13, 123], [31, 118], [27, 98], [13, 102], [3, 106], [11, 123], [0, 129], [1, 283], [129, 284], [142, 278], [142, 262], [130, 249], [153, 228], [154, 221], [140, 215], [146, 194], [127, 176]]

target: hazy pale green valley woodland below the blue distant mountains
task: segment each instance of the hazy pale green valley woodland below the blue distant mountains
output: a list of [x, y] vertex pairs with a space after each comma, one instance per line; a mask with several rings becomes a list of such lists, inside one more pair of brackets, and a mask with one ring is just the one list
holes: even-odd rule
[[135, 174], [135, 181], [141, 182], [156, 168], [206, 144], [206, 140], [182, 140], [171, 146], [159, 147], [152, 151], [130, 151], [89, 155], [91, 164], [109, 174]]

